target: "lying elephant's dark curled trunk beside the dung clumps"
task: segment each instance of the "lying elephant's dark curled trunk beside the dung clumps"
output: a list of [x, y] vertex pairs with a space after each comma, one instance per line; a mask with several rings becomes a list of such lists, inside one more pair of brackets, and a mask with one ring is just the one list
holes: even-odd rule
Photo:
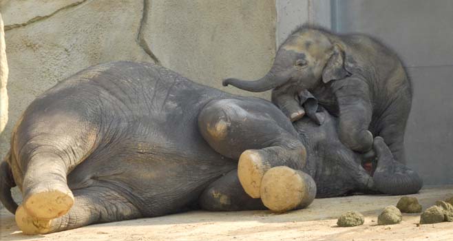
[[389, 195], [417, 193], [423, 186], [423, 180], [419, 174], [395, 161], [382, 138], [375, 138], [374, 145], [378, 163], [373, 181], [377, 190]]

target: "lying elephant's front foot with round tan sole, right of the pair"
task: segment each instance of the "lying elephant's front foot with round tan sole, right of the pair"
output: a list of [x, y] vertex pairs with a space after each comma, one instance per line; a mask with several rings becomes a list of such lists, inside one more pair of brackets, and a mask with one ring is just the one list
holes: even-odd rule
[[310, 205], [316, 196], [316, 185], [303, 171], [273, 167], [264, 174], [260, 193], [264, 206], [282, 213]]

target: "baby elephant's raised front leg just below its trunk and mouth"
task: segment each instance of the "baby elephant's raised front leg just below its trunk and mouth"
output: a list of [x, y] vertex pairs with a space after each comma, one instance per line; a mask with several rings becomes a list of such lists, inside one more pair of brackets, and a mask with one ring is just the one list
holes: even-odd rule
[[297, 94], [294, 91], [275, 89], [272, 92], [272, 102], [282, 110], [291, 122], [297, 121], [304, 117], [305, 110], [300, 105]]

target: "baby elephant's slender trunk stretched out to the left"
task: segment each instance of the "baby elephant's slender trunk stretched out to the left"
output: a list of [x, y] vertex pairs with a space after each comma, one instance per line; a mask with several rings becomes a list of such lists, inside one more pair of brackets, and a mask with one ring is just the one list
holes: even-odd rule
[[222, 82], [222, 85], [233, 85], [234, 87], [249, 92], [264, 92], [283, 85], [286, 81], [288, 81], [288, 78], [276, 75], [273, 70], [271, 70], [264, 77], [257, 79], [256, 81], [242, 81], [238, 78], [227, 78]]

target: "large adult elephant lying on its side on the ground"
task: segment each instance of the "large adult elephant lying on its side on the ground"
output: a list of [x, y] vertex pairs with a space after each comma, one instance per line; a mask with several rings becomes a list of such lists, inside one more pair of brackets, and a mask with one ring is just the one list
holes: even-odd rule
[[[314, 103], [311, 101], [311, 103]], [[374, 176], [337, 119], [291, 123], [271, 102], [149, 63], [89, 67], [36, 98], [1, 163], [0, 199], [24, 233], [207, 210], [301, 209], [355, 191], [416, 193], [379, 137]], [[19, 208], [10, 188], [19, 186]]]

